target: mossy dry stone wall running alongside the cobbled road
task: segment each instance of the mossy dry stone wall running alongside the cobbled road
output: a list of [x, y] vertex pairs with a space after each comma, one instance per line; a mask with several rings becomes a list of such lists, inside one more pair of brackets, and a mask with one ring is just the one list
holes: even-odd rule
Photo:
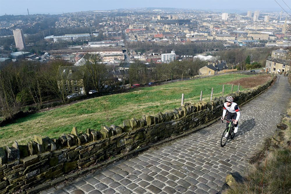
[[[238, 104], [245, 103], [266, 90], [272, 83], [235, 92]], [[40, 138], [27, 145], [0, 148], [0, 194], [23, 189], [25, 193], [37, 193], [71, 177], [88, 171], [89, 166], [101, 163], [118, 154], [183, 134], [221, 117], [224, 97], [211, 102], [185, 103], [171, 112], [159, 112], [155, 116], [143, 115], [140, 119], [123, 121], [123, 126], [104, 126], [100, 131], [87, 129], [58, 139]], [[72, 170], [82, 169], [67, 174]], [[86, 170], [87, 169], [87, 170]], [[37, 186], [32, 189], [33, 186]]]

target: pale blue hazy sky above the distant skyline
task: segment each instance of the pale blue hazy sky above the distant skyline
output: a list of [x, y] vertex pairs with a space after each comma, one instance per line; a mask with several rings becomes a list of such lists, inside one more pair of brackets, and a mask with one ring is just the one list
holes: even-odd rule
[[[276, 0], [291, 15], [291, 0]], [[239, 13], [247, 10], [281, 11], [275, 0], [0, 0], [0, 15], [61, 14], [118, 8], [190, 8]], [[284, 3], [285, 2], [285, 3]], [[287, 4], [287, 5], [286, 5]], [[285, 12], [283, 10], [283, 12]]]

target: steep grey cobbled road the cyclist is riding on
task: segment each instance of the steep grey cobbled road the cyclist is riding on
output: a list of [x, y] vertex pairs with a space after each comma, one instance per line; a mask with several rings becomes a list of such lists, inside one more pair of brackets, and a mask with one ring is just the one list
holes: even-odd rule
[[243, 174], [249, 159], [272, 137], [290, 94], [288, 78], [278, 75], [270, 89], [240, 107], [239, 131], [224, 147], [220, 138], [226, 124], [216, 122], [156, 150], [108, 165], [67, 187], [41, 193], [217, 193], [226, 175]]

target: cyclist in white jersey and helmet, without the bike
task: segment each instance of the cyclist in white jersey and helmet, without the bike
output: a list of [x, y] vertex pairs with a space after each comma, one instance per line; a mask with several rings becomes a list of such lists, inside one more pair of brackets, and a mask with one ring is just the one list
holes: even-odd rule
[[[226, 102], [223, 104], [223, 113], [222, 113], [221, 120], [224, 119], [226, 111], [228, 111], [227, 120], [230, 120], [230, 119], [235, 120], [233, 122], [233, 124], [235, 126], [235, 130], [233, 132], [237, 133], [240, 112], [239, 112], [239, 108], [238, 108], [237, 104], [235, 102], [233, 102], [233, 97], [231, 97], [231, 96], [226, 97]], [[226, 124], [226, 126], [228, 126], [228, 123]]]

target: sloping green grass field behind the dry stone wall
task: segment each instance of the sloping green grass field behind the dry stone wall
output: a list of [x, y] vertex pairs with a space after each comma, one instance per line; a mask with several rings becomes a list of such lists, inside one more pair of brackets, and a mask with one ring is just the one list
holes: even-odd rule
[[[184, 93], [184, 103], [197, 102], [201, 90], [203, 90], [203, 100], [209, 101], [212, 87], [214, 97], [220, 97], [223, 84], [228, 83], [224, 89], [226, 95], [231, 91], [232, 81], [250, 76], [262, 81], [256, 75], [213, 76], [136, 88], [128, 93], [92, 98], [50, 111], [31, 114], [0, 128], [0, 146], [12, 145], [15, 140], [20, 145], [24, 145], [32, 140], [34, 135], [58, 138], [62, 134], [70, 133], [72, 127], [77, 127], [78, 132], [84, 132], [87, 128], [100, 130], [102, 125], [122, 125], [123, 120], [133, 117], [141, 118], [145, 114], [156, 115], [159, 111], [164, 113], [180, 106], [182, 93]], [[238, 86], [234, 86], [233, 90], [237, 89]], [[245, 89], [246, 87], [241, 85], [240, 90]]]

